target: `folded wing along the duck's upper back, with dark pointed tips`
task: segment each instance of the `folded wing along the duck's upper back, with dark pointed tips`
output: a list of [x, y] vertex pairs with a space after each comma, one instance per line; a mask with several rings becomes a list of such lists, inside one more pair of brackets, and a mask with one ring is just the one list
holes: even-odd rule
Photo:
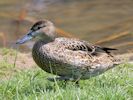
[[117, 50], [114, 48], [101, 47], [98, 45], [91, 44], [87, 41], [74, 38], [57, 38], [56, 41], [61, 43], [66, 49], [73, 51], [81, 50], [91, 54], [97, 54], [98, 52], [105, 52], [110, 54], [110, 51]]

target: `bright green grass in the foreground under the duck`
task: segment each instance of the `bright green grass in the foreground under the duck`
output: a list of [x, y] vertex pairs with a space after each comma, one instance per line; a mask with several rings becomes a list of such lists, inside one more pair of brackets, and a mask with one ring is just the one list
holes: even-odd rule
[[[8, 50], [7, 50], [8, 51]], [[8, 52], [4, 52], [4, 56]], [[13, 54], [14, 56], [14, 54]], [[1, 67], [2, 66], [2, 67]], [[119, 65], [104, 74], [74, 83], [49, 82], [40, 68], [17, 69], [0, 61], [0, 100], [132, 100], [133, 65]], [[12, 74], [13, 73], [13, 74]], [[7, 78], [4, 78], [8, 76]]]

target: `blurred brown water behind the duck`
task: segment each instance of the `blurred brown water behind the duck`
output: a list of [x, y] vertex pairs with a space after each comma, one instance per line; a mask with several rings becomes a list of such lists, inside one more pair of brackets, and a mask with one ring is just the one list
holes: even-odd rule
[[[36, 20], [101, 46], [133, 52], [133, 0], [0, 0], [0, 47], [15, 48]], [[28, 52], [33, 42], [21, 46]]]

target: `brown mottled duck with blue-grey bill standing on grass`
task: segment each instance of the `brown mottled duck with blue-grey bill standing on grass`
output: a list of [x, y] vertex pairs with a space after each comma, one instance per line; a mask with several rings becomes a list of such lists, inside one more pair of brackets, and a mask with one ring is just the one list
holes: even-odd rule
[[32, 56], [36, 64], [58, 80], [84, 80], [99, 75], [121, 62], [111, 54], [112, 48], [93, 45], [76, 38], [58, 37], [51, 21], [36, 22], [16, 43], [36, 39]]

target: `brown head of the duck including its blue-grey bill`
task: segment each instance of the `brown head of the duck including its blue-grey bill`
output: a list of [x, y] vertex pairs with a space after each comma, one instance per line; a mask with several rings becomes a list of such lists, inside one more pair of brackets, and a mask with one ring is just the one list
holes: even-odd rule
[[39, 39], [51, 39], [53, 40], [56, 37], [55, 27], [52, 22], [48, 20], [41, 20], [36, 22], [29, 32], [19, 39], [16, 44], [23, 44], [34, 38]]

